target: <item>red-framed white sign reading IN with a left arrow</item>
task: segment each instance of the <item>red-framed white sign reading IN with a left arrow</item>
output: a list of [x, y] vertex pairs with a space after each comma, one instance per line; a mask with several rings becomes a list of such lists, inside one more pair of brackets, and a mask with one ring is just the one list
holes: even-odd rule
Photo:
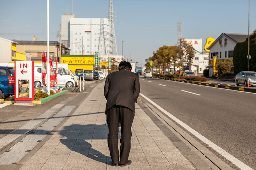
[[[34, 61], [15, 61], [14, 100], [34, 100]], [[19, 80], [29, 81], [29, 98], [19, 98]]]

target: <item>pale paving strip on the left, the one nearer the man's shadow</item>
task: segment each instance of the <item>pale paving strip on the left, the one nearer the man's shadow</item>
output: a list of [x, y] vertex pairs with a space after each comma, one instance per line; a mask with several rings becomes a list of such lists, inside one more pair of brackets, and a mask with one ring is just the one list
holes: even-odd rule
[[31, 151], [41, 140], [45, 138], [60, 122], [68, 116], [75, 106], [66, 106], [56, 115], [46, 121], [43, 125], [32, 131], [23, 140], [15, 144], [8, 151], [0, 155], [0, 165], [10, 165], [18, 163], [25, 155]]

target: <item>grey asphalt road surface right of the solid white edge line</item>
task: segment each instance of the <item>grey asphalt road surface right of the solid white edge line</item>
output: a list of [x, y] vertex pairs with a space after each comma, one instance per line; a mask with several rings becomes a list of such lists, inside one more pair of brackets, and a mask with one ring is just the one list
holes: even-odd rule
[[142, 76], [140, 92], [256, 169], [256, 94]]

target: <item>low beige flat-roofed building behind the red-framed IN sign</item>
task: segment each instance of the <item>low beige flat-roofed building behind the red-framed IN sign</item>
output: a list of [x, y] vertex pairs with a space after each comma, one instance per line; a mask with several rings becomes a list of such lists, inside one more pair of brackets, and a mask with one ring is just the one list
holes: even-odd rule
[[[42, 61], [42, 52], [47, 52], [47, 41], [17, 41], [17, 51], [26, 53], [26, 61]], [[57, 41], [50, 41], [49, 53], [50, 57], [59, 60], [60, 44]], [[61, 54], [68, 54], [69, 49], [61, 46]], [[47, 55], [47, 53], [46, 53]]]

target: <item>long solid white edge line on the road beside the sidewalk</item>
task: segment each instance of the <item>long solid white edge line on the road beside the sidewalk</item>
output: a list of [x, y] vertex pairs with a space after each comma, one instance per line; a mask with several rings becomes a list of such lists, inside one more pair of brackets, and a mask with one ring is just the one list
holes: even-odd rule
[[186, 130], [191, 132], [193, 135], [195, 135], [198, 139], [202, 140], [205, 144], [213, 148], [215, 151], [217, 151], [219, 154], [221, 154], [223, 157], [225, 157], [227, 160], [232, 162], [234, 165], [239, 167], [242, 170], [253, 170], [251, 167], [245, 165], [243, 162], [239, 161], [237, 158], [235, 158], [233, 155], [229, 154], [227, 151], [223, 150], [221, 147], [217, 146], [215, 143], [211, 142], [207, 138], [205, 138], [203, 135], [199, 134], [197, 131], [193, 130], [191, 127], [189, 127], [187, 124], [183, 123], [179, 119], [177, 119], [175, 116], [173, 116], [171, 113], [167, 112], [165, 109], [161, 108], [158, 104], [156, 104], [154, 101], [150, 100], [146, 96], [144, 96], [142, 93], [140, 93], [142, 97], [144, 97], [147, 101], [149, 101], [151, 104], [153, 104], [155, 107], [157, 107], [160, 111], [165, 113], [167, 116], [169, 116], [171, 119], [176, 121], [178, 124], [180, 124], [182, 127], [184, 127]]

